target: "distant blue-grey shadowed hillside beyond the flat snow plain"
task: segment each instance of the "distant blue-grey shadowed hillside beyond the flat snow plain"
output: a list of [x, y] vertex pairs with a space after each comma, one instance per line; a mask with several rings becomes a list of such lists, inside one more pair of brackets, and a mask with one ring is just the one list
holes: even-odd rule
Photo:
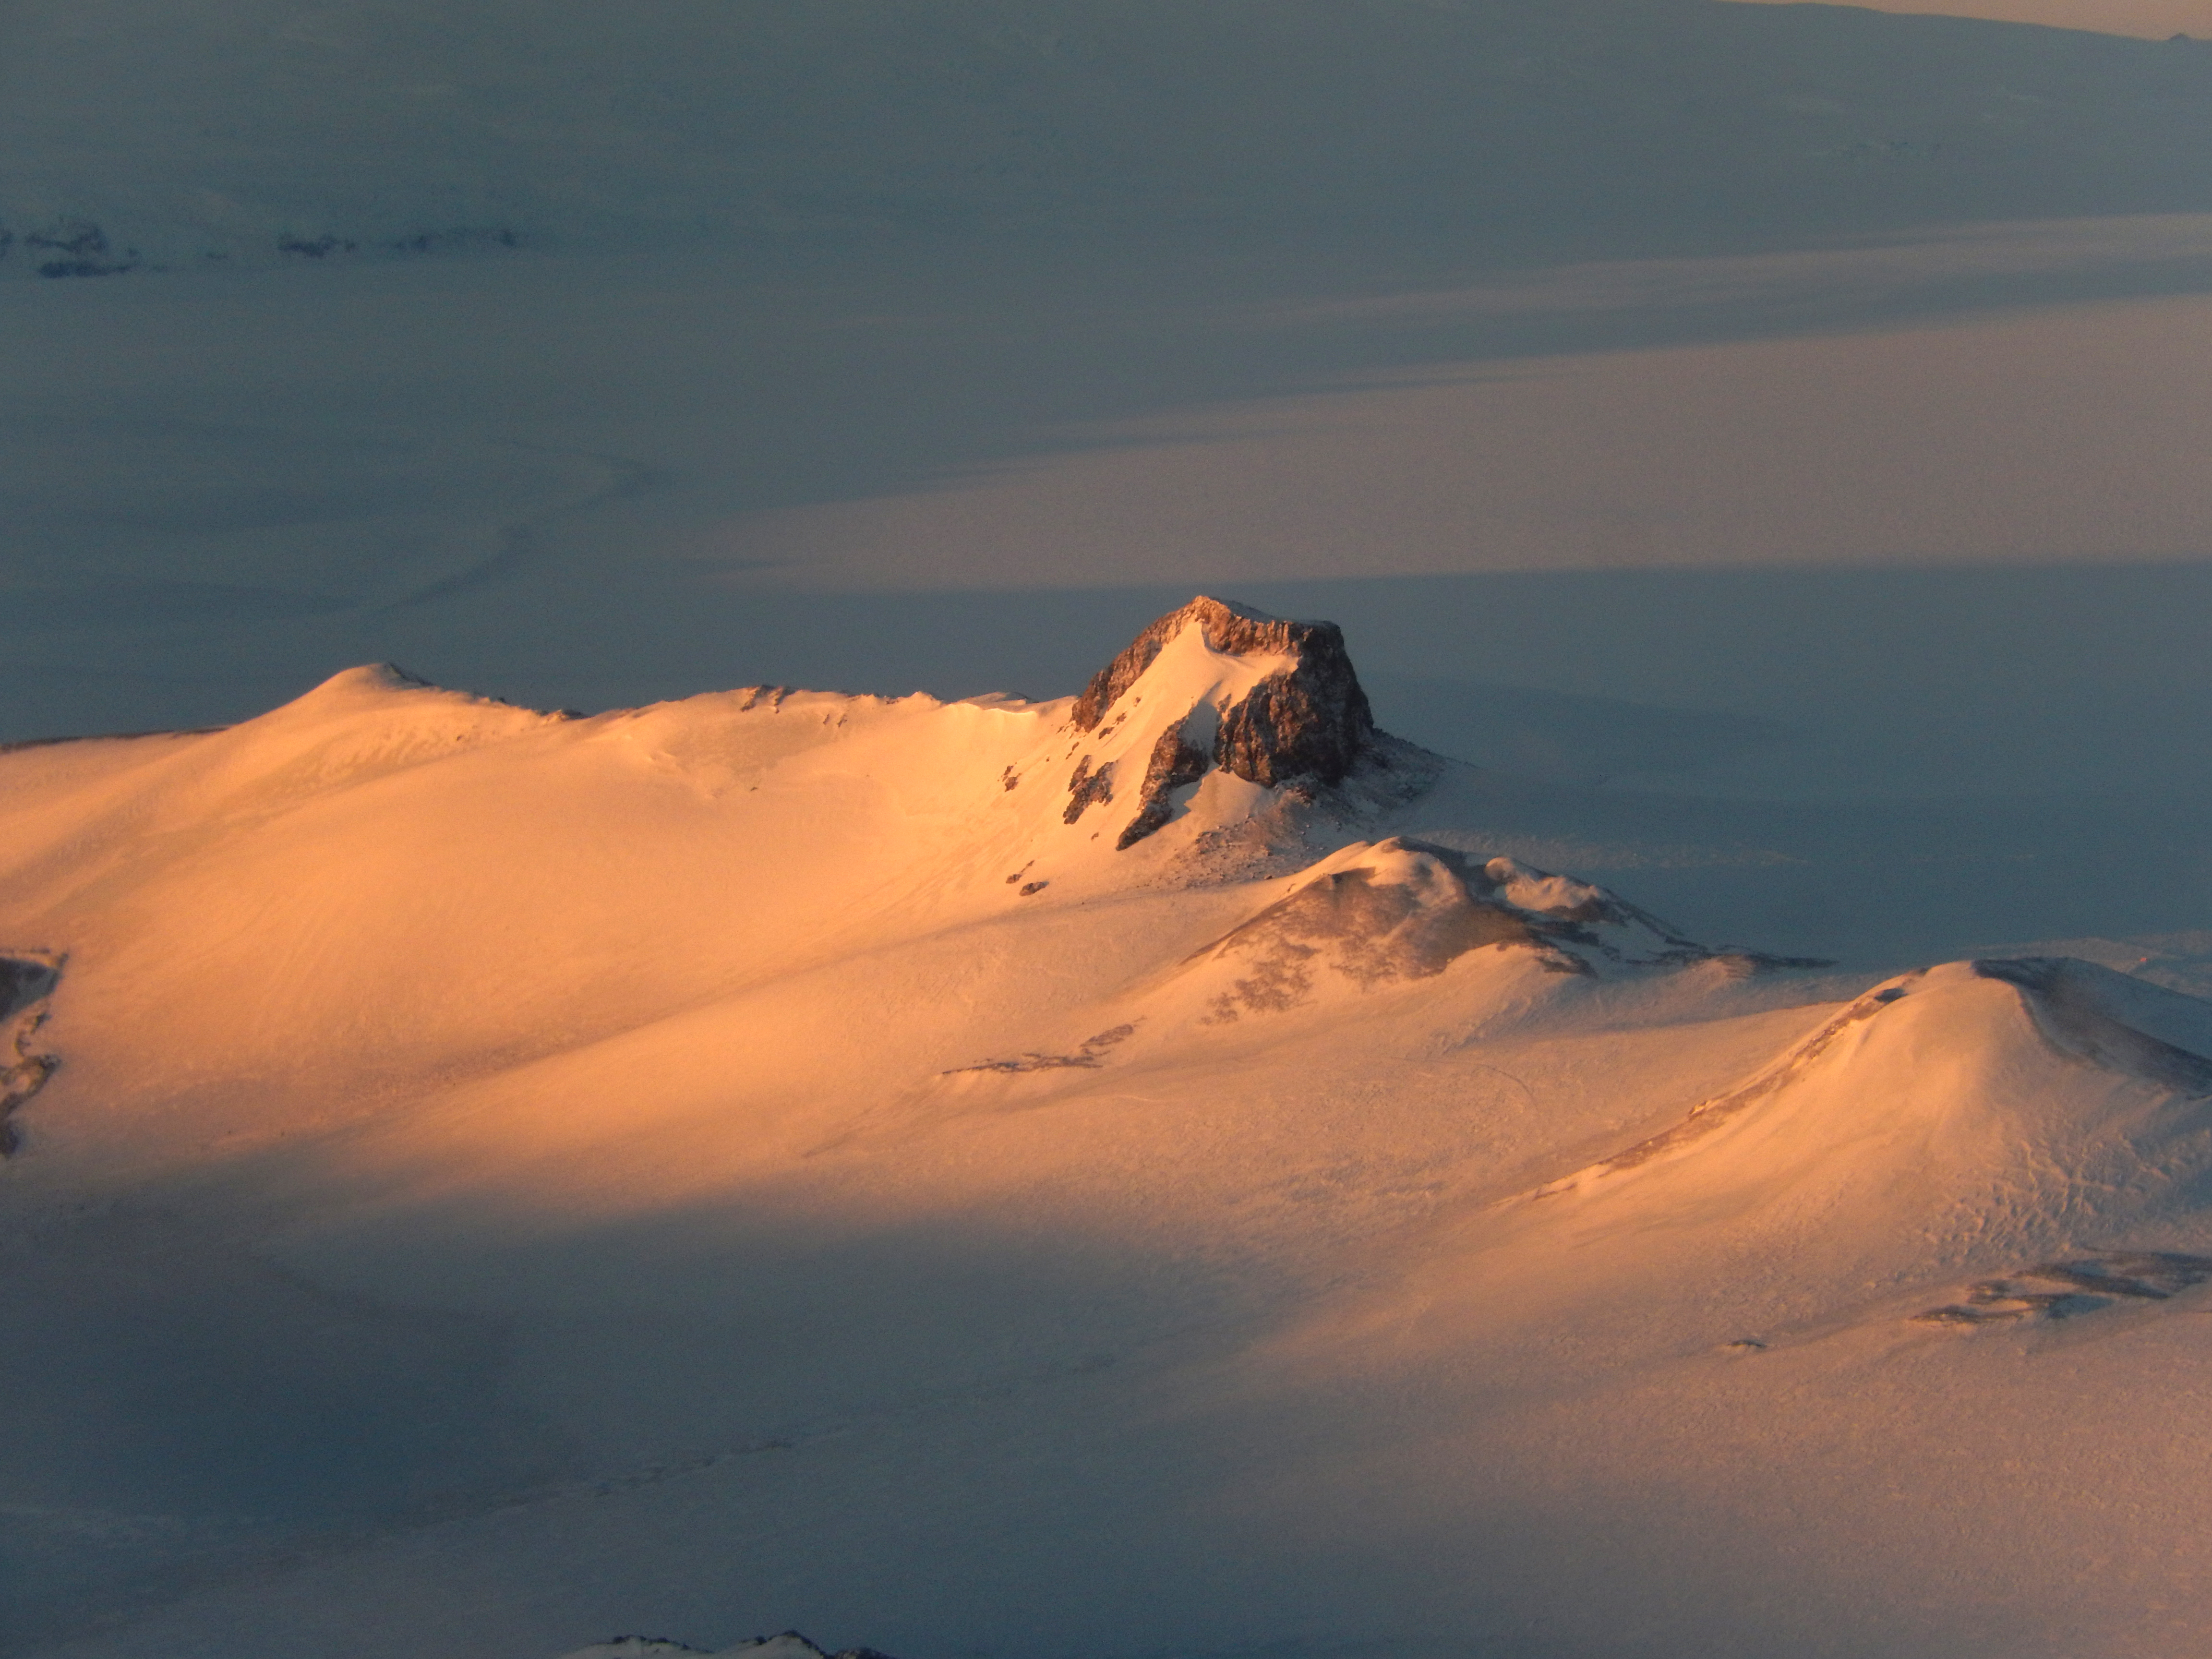
[[0, 274], [2203, 210], [2212, 51], [1712, 0], [27, 0]]

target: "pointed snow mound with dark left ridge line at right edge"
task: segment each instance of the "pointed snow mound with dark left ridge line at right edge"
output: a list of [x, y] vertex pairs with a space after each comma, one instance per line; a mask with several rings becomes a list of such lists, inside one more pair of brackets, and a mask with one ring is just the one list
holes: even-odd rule
[[1637, 1190], [1679, 1210], [1728, 1194], [1867, 1239], [2064, 1250], [2084, 1225], [2192, 1212], [2212, 1177], [2212, 1060], [2174, 1035], [2212, 1035], [2212, 1004], [2090, 962], [1944, 962], [1528, 1197]]

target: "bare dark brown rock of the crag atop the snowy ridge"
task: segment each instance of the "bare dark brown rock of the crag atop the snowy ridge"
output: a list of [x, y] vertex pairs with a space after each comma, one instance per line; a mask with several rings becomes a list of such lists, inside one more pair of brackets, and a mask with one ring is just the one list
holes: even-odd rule
[[[1121, 832], [1117, 847], [1144, 841], [1168, 823], [1170, 792], [1197, 783], [1210, 765], [1263, 787], [1332, 785], [1345, 779], [1376, 734], [1367, 692], [1360, 690], [1352, 657], [1345, 653], [1343, 628], [1334, 622], [1285, 622], [1206, 595], [1152, 622], [1091, 679], [1075, 699], [1071, 714], [1075, 730], [1097, 730], [1106, 712], [1183, 628], [1203, 630], [1212, 650], [1234, 657], [1287, 657], [1290, 666], [1261, 679], [1228, 708], [1203, 710], [1208, 717], [1217, 714], [1210, 732], [1197, 730], [1199, 721], [1192, 717], [1201, 710], [1192, 708], [1159, 734], [1139, 787], [1137, 816]], [[1102, 794], [1102, 787], [1099, 774], [1091, 774], [1088, 765], [1077, 768], [1071, 783], [1071, 821]]]

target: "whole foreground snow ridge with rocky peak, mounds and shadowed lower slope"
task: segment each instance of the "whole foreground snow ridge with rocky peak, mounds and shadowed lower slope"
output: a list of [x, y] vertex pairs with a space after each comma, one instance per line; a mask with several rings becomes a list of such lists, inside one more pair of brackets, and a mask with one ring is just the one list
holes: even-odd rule
[[0, 1652], [2185, 1650], [2212, 1004], [1500, 787], [1210, 597], [0, 752]]

